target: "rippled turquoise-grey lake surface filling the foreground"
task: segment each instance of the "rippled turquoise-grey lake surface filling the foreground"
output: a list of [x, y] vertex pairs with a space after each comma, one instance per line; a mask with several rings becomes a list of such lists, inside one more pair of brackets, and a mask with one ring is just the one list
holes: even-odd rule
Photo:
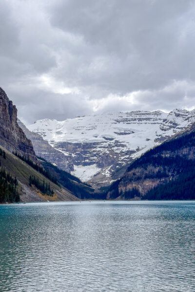
[[195, 201], [0, 205], [0, 292], [195, 291], [194, 264]]

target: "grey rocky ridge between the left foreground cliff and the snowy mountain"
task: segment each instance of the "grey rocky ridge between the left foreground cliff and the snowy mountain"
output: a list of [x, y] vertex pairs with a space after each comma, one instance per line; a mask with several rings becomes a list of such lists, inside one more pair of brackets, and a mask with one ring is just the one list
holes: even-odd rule
[[47, 161], [57, 165], [60, 169], [67, 172], [70, 172], [74, 169], [71, 161], [68, 162], [66, 156], [62, 152], [50, 146], [49, 143], [43, 140], [39, 134], [29, 131], [19, 119], [18, 124], [24, 131], [26, 137], [31, 140], [37, 156], [46, 159]]

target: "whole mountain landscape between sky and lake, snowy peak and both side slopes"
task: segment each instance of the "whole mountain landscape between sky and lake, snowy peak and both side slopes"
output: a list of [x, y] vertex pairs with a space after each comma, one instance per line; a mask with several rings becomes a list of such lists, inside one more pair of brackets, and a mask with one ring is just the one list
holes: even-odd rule
[[0, 202], [194, 200], [195, 110], [25, 127], [0, 89], [0, 119]]

